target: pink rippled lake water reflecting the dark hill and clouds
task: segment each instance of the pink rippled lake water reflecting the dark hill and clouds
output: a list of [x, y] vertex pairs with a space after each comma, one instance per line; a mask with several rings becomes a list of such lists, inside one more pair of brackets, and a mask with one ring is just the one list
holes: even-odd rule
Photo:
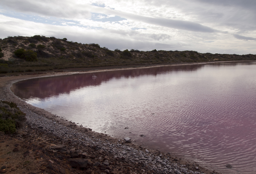
[[25, 80], [12, 90], [94, 131], [128, 136], [222, 173], [256, 173], [256, 62], [92, 75]]

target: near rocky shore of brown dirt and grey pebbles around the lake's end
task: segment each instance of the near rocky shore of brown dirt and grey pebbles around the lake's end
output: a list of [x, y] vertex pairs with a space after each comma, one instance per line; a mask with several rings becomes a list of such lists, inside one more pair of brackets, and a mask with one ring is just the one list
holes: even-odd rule
[[10, 91], [19, 80], [66, 75], [58, 72], [0, 77], [0, 100], [26, 113], [16, 135], [0, 135], [0, 173], [26, 174], [217, 174], [195, 162], [97, 133], [31, 106]]

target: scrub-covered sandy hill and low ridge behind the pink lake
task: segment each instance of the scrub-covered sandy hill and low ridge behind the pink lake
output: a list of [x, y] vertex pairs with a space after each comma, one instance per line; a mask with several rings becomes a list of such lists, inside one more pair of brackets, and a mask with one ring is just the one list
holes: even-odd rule
[[[2, 51], [1, 51], [2, 50]], [[9, 53], [9, 54], [7, 54]], [[47, 71], [63, 68], [102, 67], [175, 62], [256, 60], [256, 55], [198, 53], [197, 51], [120, 51], [35, 35], [0, 39], [0, 73]]]

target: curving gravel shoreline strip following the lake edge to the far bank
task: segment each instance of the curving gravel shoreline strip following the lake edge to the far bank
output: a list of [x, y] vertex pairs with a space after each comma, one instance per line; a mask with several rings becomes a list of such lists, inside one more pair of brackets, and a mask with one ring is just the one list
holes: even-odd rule
[[[230, 62], [230, 61], [228, 61]], [[235, 61], [237, 62], [237, 61]], [[135, 68], [150, 68], [150, 67], [161, 67], [161, 66], [177, 66], [177, 65], [193, 65], [193, 64], [208, 64], [216, 62], [203, 62], [203, 63], [176, 63], [171, 65], [150, 65], [150, 66], [133, 66], [133, 67], [119, 67], [119, 68], [90, 68], [90, 70], [85, 71], [64, 71], [64, 72], [46, 72], [44, 74], [26, 74], [19, 76], [9, 76], [9, 77], [0, 77], [0, 100], [12, 101], [15, 102], [22, 112], [26, 113], [26, 126], [18, 131], [16, 138], [20, 140], [32, 141], [32, 136], [23, 136], [28, 135], [30, 132], [33, 132], [33, 136], [45, 137], [43, 148], [48, 150], [49, 148], [54, 148], [54, 145], [65, 146], [64, 149], [66, 155], [77, 153], [81, 155], [81, 159], [87, 159], [91, 165], [88, 165], [87, 170], [74, 169], [68, 166], [68, 170], [71, 173], [92, 173], [95, 174], [99, 171], [99, 167], [93, 166], [96, 162], [104, 163], [106, 160], [109, 162], [108, 167], [102, 171], [103, 173], [121, 173], [122, 169], [119, 167], [120, 161], [124, 166], [130, 167], [126, 170], [126, 173], [137, 171], [137, 173], [191, 173], [191, 174], [218, 174], [215, 171], [206, 169], [206, 167], [199, 166], [196, 162], [189, 162], [184, 158], [176, 157], [170, 153], [160, 152], [159, 150], [152, 150], [145, 148], [143, 146], [137, 145], [135, 143], [123, 143], [121, 138], [113, 138], [107, 134], [97, 133], [91, 131], [88, 128], [80, 127], [71, 121], [67, 121], [63, 117], [55, 116], [44, 109], [32, 106], [19, 97], [15, 96], [10, 87], [13, 83], [26, 80], [30, 78], [40, 78], [40, 77], [51, 77], [51, 76], [61, 76], [61, 75], [71, 75], [74, 73], [92, 73], [92, 72], [104, 72], [112, 70], [124, 70], [124, 69], [135, 69]], [[8, 136], [8, 135], [4, 135]], [[49, 138], [50, 137], [50, 138]], [[55, 138], [52, 138], [55, 137]], [[32, 138], [32, 139], [31, 139]], [[123, 137], [124, 138], [124, 137]], [[36, 139], [36, 138], [34, 138]], [[54, 140], [53, 140], [54, 139]], [[41, 138], [42, 140], [42, 138]], [[49, 141], [50, 140], [50, 141]], [[57, 142], [55, 141], [57, 140]], [[60, 141], [59, 141], [60, 140]], [[36, 140], [33, 141], [37, 142]], [[51, 145], [54, 144], [54, 145]], [[113, 149], [117, 149], [113, 151]], [[147, 150], [149, 153], [147, 152]], [[55, 148], [56, 150], [56, 148]], [[53, 150], [53, 153], [56, 151]], [[55, 151], [55, 152], [54, 152]], [[58, 150], [57, 150], [58, 151]], [[91, 152], [92, 151], [92, 152]], [[94, 151], [94, 152], [93, 152]], [[59, 151], [61, 152], [61, 151]], [[92, 155], [89, 155], [90, 153]], [[103, 155], [99, 155], [103, 154]], [[110, 152], [110, 153], [109, 153]], [[97, 154], [100, 157], [97, 157]], [[105, 155], [107, 154], [107, 155]], [[111, 155], [112, 154], [112, 155]], [[105, 155], [105, 156], [104, 156]], [[66, 156], [65, 156], [66, 157]], [[26, 157], [25, 157], [26, 158]], [[68, 158], [68, 157], [67, 157]], [[63, 157], [62, 157], [63, 159]], [[59, 159], [60, 160], [60, 159]], [[63, 160], [62, 160], [63, 161]], [[67, 160], [64, 160], [67, 161]], [[0, 165], [1, 160], [0, 160]], [[160, 167], [161, 166], [161, 167]], [[2, 167], [2, 166], [0, 166]], [[65, 167], [62, 165], [62, 168]], [[81, 168], [81, 167], [80, 167]], [[115, 171], [116, 169], [120, 169]], [[48, 169], [48, 168], [47, 168]], [[45, 171], [47, 171], [45, 169]], [[89, 170], [90, 169], [90, 170]], [[38, 168], [38, 171], [40, 167]], [[89, 170], [89, 171], [88, 171]], [[42, 171], [40, 171], [42, 172]], [[124, 172], [124, 171], [123, 171]], [[180, 172], [180, 173], [179, 173]], [[15, 172], [14, 172], [15, 173]], [[65, 172], [66, 174], [68, 172]], [[99, 173], [99, 172], [98, 172]]]

